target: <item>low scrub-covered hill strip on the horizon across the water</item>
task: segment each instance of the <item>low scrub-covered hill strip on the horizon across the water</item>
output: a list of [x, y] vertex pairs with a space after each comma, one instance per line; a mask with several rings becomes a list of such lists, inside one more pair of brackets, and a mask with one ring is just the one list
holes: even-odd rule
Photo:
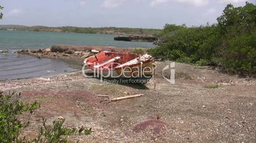
[[73, 32], [84, 34], [146, 35], [158, 36], [161, 29], [153, 28], [121, 28], [121, 27], [45, 27], [24, 25], [0, 25], [0, 30], [27, 30], [36, 32]]

